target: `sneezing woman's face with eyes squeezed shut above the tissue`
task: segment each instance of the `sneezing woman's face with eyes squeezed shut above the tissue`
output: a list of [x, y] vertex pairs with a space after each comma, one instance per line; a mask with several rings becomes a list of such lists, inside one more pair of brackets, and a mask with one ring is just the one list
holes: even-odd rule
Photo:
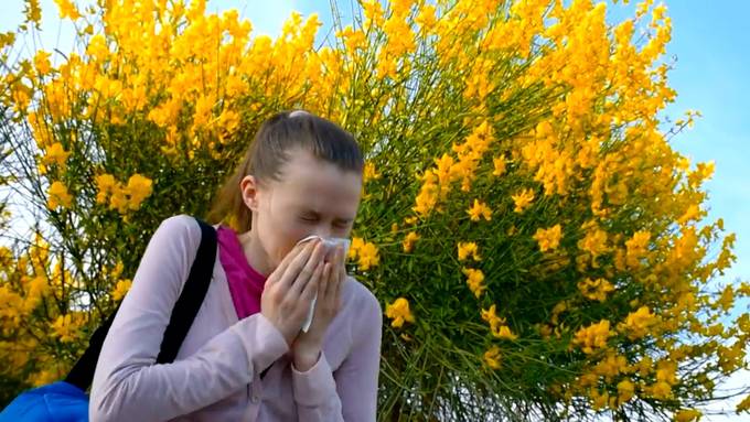
[[310, 235], [347, 238], [360, 206], [358, 173], [343, 171], [301, 148], [288, 156], [279, 181], [255, 185], [251, 237], [262, 247], [269, 269]]

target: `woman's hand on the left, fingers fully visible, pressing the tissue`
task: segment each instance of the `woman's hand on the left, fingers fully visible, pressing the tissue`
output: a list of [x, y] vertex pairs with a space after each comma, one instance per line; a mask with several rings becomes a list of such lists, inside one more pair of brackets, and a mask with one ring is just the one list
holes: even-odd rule
[[299, 335], [323, 274], [325, 247], [315, 239], [296, 246], [266, 280], [260, 312], [287, 344]]

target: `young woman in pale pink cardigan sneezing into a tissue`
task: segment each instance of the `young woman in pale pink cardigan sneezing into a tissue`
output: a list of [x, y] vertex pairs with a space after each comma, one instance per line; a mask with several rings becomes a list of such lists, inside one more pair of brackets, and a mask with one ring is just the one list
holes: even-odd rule
[[[92, 421], [374, 421], [382, 311], [346, 275], [363, 158], [353, 137], [307, 111], [260, 128], [219, 192], [218, 251], [203, 304], [173, 364], [156, 364], [201, 229], [165, 219], [109, 329]], [[312, 325], [301, 331], [317, 295]]]

